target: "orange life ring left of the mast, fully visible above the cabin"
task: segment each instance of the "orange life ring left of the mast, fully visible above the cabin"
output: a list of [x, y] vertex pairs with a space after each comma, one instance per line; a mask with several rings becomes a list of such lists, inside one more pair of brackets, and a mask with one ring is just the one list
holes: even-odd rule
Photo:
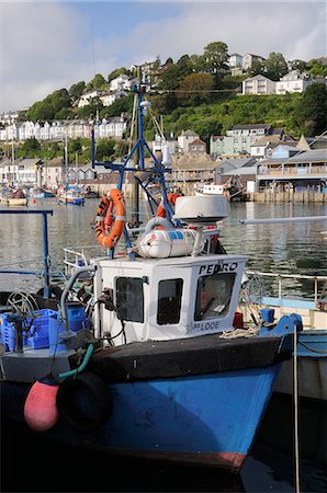
[[[115, 218], [113, 210], [115, 210]], [[124, 231], [125, 222], [124, 195], [120, 190], [113, 188], [109, 196], [102, 197], [97, 210], [94, 231], [99, 243], [106, 249], [115, 246]]]

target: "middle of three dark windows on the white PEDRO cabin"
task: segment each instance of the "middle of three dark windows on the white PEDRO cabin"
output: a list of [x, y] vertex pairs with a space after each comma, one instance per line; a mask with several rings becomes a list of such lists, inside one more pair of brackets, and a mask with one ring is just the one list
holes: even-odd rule
[[157, 323], [178, 323], [181, 314], [183, 279], [160, 280], [158, 286]]

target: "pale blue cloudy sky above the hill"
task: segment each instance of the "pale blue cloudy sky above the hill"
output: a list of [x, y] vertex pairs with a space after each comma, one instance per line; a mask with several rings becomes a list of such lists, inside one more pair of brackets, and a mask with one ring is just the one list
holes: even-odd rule
[[117, 67], [201, 55], [216, 41], [229, 54], [326, 56], [326, 26], [325, 0], [0, 0], [0, 114]]

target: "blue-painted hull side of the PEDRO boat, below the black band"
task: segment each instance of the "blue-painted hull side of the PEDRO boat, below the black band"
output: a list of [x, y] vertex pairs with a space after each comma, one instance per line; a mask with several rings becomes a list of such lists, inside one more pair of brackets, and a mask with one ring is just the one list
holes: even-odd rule
[[[92, 433], [61, 421], [53, 438], [108, 452], [215, 466], [237, 472], [252, 445], [280, 364], [219, 375], [112, 383], [113, 410]], [[7, 383], [4, 414], [23, 419], [27, 386]], [[86, 402], [83, 402], [86, 405]]]

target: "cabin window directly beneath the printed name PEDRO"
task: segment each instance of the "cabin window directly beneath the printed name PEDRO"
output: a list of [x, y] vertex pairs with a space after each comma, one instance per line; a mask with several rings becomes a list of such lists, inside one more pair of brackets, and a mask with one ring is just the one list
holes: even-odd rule
[[199, 277], [194, 320], [214, 319], [227, 313], [235, 277], [235, 273]]

